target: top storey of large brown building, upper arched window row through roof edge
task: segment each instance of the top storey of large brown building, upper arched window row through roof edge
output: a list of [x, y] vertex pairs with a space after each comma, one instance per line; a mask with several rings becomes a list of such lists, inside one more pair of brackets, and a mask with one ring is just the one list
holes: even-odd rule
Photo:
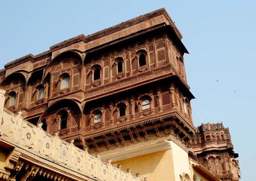
[[[10, 62], [0, 73], [1, 87], [10, 99], [12, 94], [19, 99], [16, 108], [31, 108], [45, 99], [49, 105], [63, 98], [83, 104], [112, 94], [113, 88], [124, 91], [177, 76], [191, 99], [183, 60], [188, 51], [181, 38], [172, 19], [160, 9]], [[20, 80], [15, 84], [16, 75]], [[25, 98], [25, 93], [32, 95]], [[40, 98], [45, 99], [38, 102]], [[24, 99], [27, 103], [22, 105]]]

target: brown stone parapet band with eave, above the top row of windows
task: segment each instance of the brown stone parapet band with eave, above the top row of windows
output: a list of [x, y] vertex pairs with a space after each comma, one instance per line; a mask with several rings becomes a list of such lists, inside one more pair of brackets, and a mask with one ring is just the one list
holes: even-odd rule
[[[157, 29], [163, 29], [163, 27], [168, 28], [167, 34], [171, 39], [170, 42], [168, 42], [170, 45], [170, 51], [174, 51], [177, 54], [175, 58], [181, 57], [182, 60], [182, 55], [188, 52], [180, 41], [182, 36], [166, 11], [161, 9], [133, 18], [127, 22], [122, 22], [122, 24], [115, 25], [88, 36], [84, 36], [82, 34], [71, 38], [70, 40], [65, 40], [50, 47], [50, 50], [42, 54], [29, 54], [25, 57], [21, 57], [20, 59], [16, 59], [4, 66], [5, 69], [2, 71], [1, 75], [3, 78], [4, 75], [8, 76], [15, 71], [24, 70], [31, 72], [34, 69], [47, 66], [47, 64], [49, 64], [49, 62], [51, 62], [56, 56], [60, 55], [62, 52], [67, 52], [68, 50], [77, 52], [84, 61], [86, 55], [91, 52], [95, 52], [96, 50], [109, 47], [111, 45], [116, 45], [117, 43], [124, 42], [125, 40], [129, 40], [140, 35], [144, 36], [145, 33], [152, 32]], [[143, 45], [143, 42], [140, 43]], [[167, 45], [165, 46], [167, 47]]]

